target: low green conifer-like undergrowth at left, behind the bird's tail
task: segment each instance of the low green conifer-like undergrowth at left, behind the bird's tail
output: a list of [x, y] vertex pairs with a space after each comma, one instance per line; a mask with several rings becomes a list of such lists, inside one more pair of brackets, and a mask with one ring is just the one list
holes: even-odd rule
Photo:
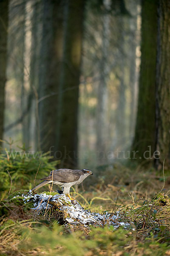
[[[31, 189], [34, 186], [34, 179], [37, 173], [37, 179], [49, 175], [51, 170], [56, 169], [59, 161], [52, 161], [49, 152], [42, 153], [33, 152], [18, 147], [14, 150], [13, 141], [6, 142], [9, 146], [8, 150], [1, 151], [0, 154], [0, 193], [6, 194], [11, 186], [12, 191], [16, 189]], [[38, 172], [37, 172], [38, 170]], [[10, 177], [11, 176], [11, 180]]]

